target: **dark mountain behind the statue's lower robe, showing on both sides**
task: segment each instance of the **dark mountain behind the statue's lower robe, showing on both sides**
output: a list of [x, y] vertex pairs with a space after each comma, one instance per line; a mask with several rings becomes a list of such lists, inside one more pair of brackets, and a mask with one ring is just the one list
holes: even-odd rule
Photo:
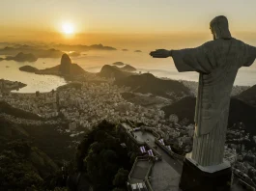
[[[187, 118], [189, 123], [194, 123], [196, 98], [187, 96], [172, 105], [162, 107], [165, 117], [176, 114], [179, 119]], [[256, 134], [256, 108], [252, 107], [238, 98], [231, 98], [229, 110], [229, 126], [234, 123], [244, 123], [246, 130]]]

